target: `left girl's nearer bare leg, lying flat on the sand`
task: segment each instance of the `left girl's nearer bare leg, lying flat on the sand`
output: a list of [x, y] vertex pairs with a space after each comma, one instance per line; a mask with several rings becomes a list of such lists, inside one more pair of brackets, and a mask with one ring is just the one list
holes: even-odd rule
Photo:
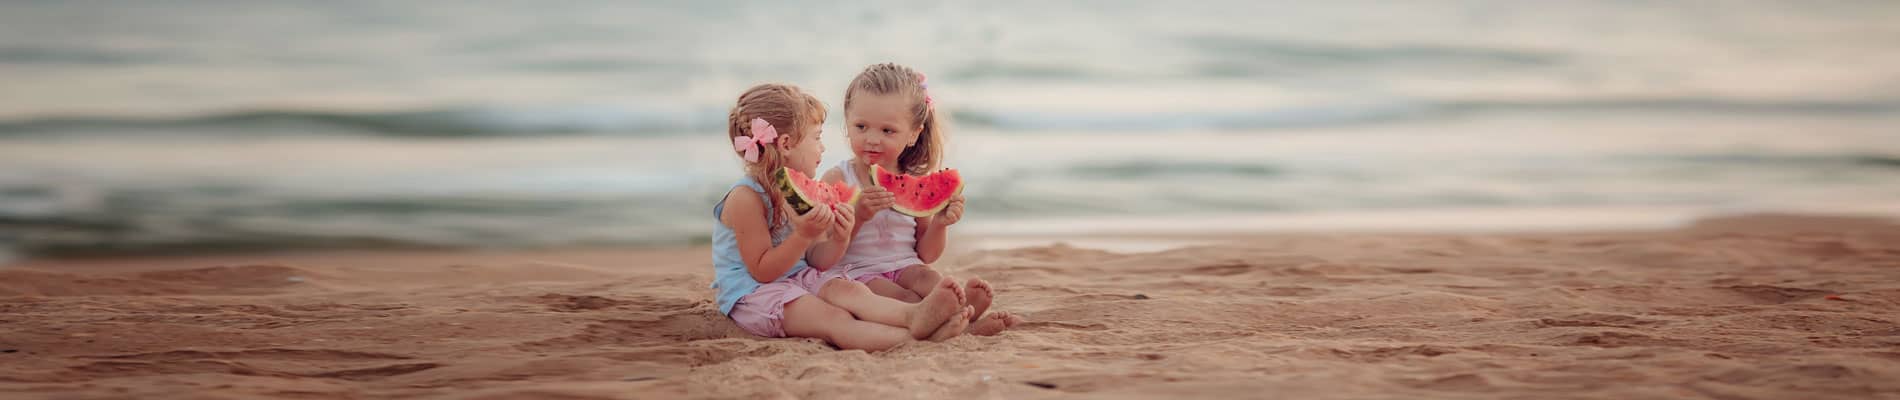
[[912, 341], [904, 328], [851, 318], [851, 311], [809, 294], [785, 303], [785, 336], [819, 337], [838, 349], [859, 351], [884, 351]]

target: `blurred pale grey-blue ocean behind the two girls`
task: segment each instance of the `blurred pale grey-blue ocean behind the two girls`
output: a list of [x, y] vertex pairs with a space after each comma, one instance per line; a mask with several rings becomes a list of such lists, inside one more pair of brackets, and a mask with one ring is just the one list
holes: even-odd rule
[[6, 2], [0, 260], [705, 243], [739, 91], [817, 93], [832, 165], [846, 82], [885, 61], [952, 116], [969, 233], [1900, 212], [1892, 21], [1881, 0]]

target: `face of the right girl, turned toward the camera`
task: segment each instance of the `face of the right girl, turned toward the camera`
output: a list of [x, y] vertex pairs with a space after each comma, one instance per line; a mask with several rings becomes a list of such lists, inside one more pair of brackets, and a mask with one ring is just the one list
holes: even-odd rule
[[897, 93], [855, 93], [851, 108], [844, 110], [846, 138], [851, 154], [870, 165], [897, 169], [897, 155], [918, 142], [923, 125], [914, 121], [910, 100]]

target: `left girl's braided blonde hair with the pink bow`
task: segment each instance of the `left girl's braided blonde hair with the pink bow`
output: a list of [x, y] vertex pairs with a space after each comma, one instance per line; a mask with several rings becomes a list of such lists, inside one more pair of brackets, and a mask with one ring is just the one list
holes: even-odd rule
[[[752, 136], [752, 119], [756, 118], [771, 123], [779, 131], [779, 138], [771, 144], [758, 144], [758, 161], [745, 163], [745, 174], [766, 188], [766, 197], [777, 210], [771, 212], [768, 224], [777, 233], [790, 212], [790, 207], [785, 205], [785, 193], [779, 191], [777, 173], [785, 167], [785, 154], [779, 152], [779, 144], [798, 146], [806, 140], [806, 131], [823, 125], [825, 102], [819, 102], [817, 97], [796, 85], [760, 83], [745, 89], [739, 95], [739, 104], [733, 104], [726, 116], [726, 142], [730, 144], [739, 136]], [[733, 155], [743, 155], [743, 152], [733, 152]]]

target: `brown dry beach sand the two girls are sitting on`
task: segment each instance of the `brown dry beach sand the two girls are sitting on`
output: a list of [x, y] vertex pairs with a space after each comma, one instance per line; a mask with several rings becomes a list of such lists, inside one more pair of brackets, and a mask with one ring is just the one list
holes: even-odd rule
[[1900, 398], [1900, 226], [1273, 235], [960, 252], [1030, 318], [834, 351], [718, 315], [707, 250], [0, 269], [0, 398]]

